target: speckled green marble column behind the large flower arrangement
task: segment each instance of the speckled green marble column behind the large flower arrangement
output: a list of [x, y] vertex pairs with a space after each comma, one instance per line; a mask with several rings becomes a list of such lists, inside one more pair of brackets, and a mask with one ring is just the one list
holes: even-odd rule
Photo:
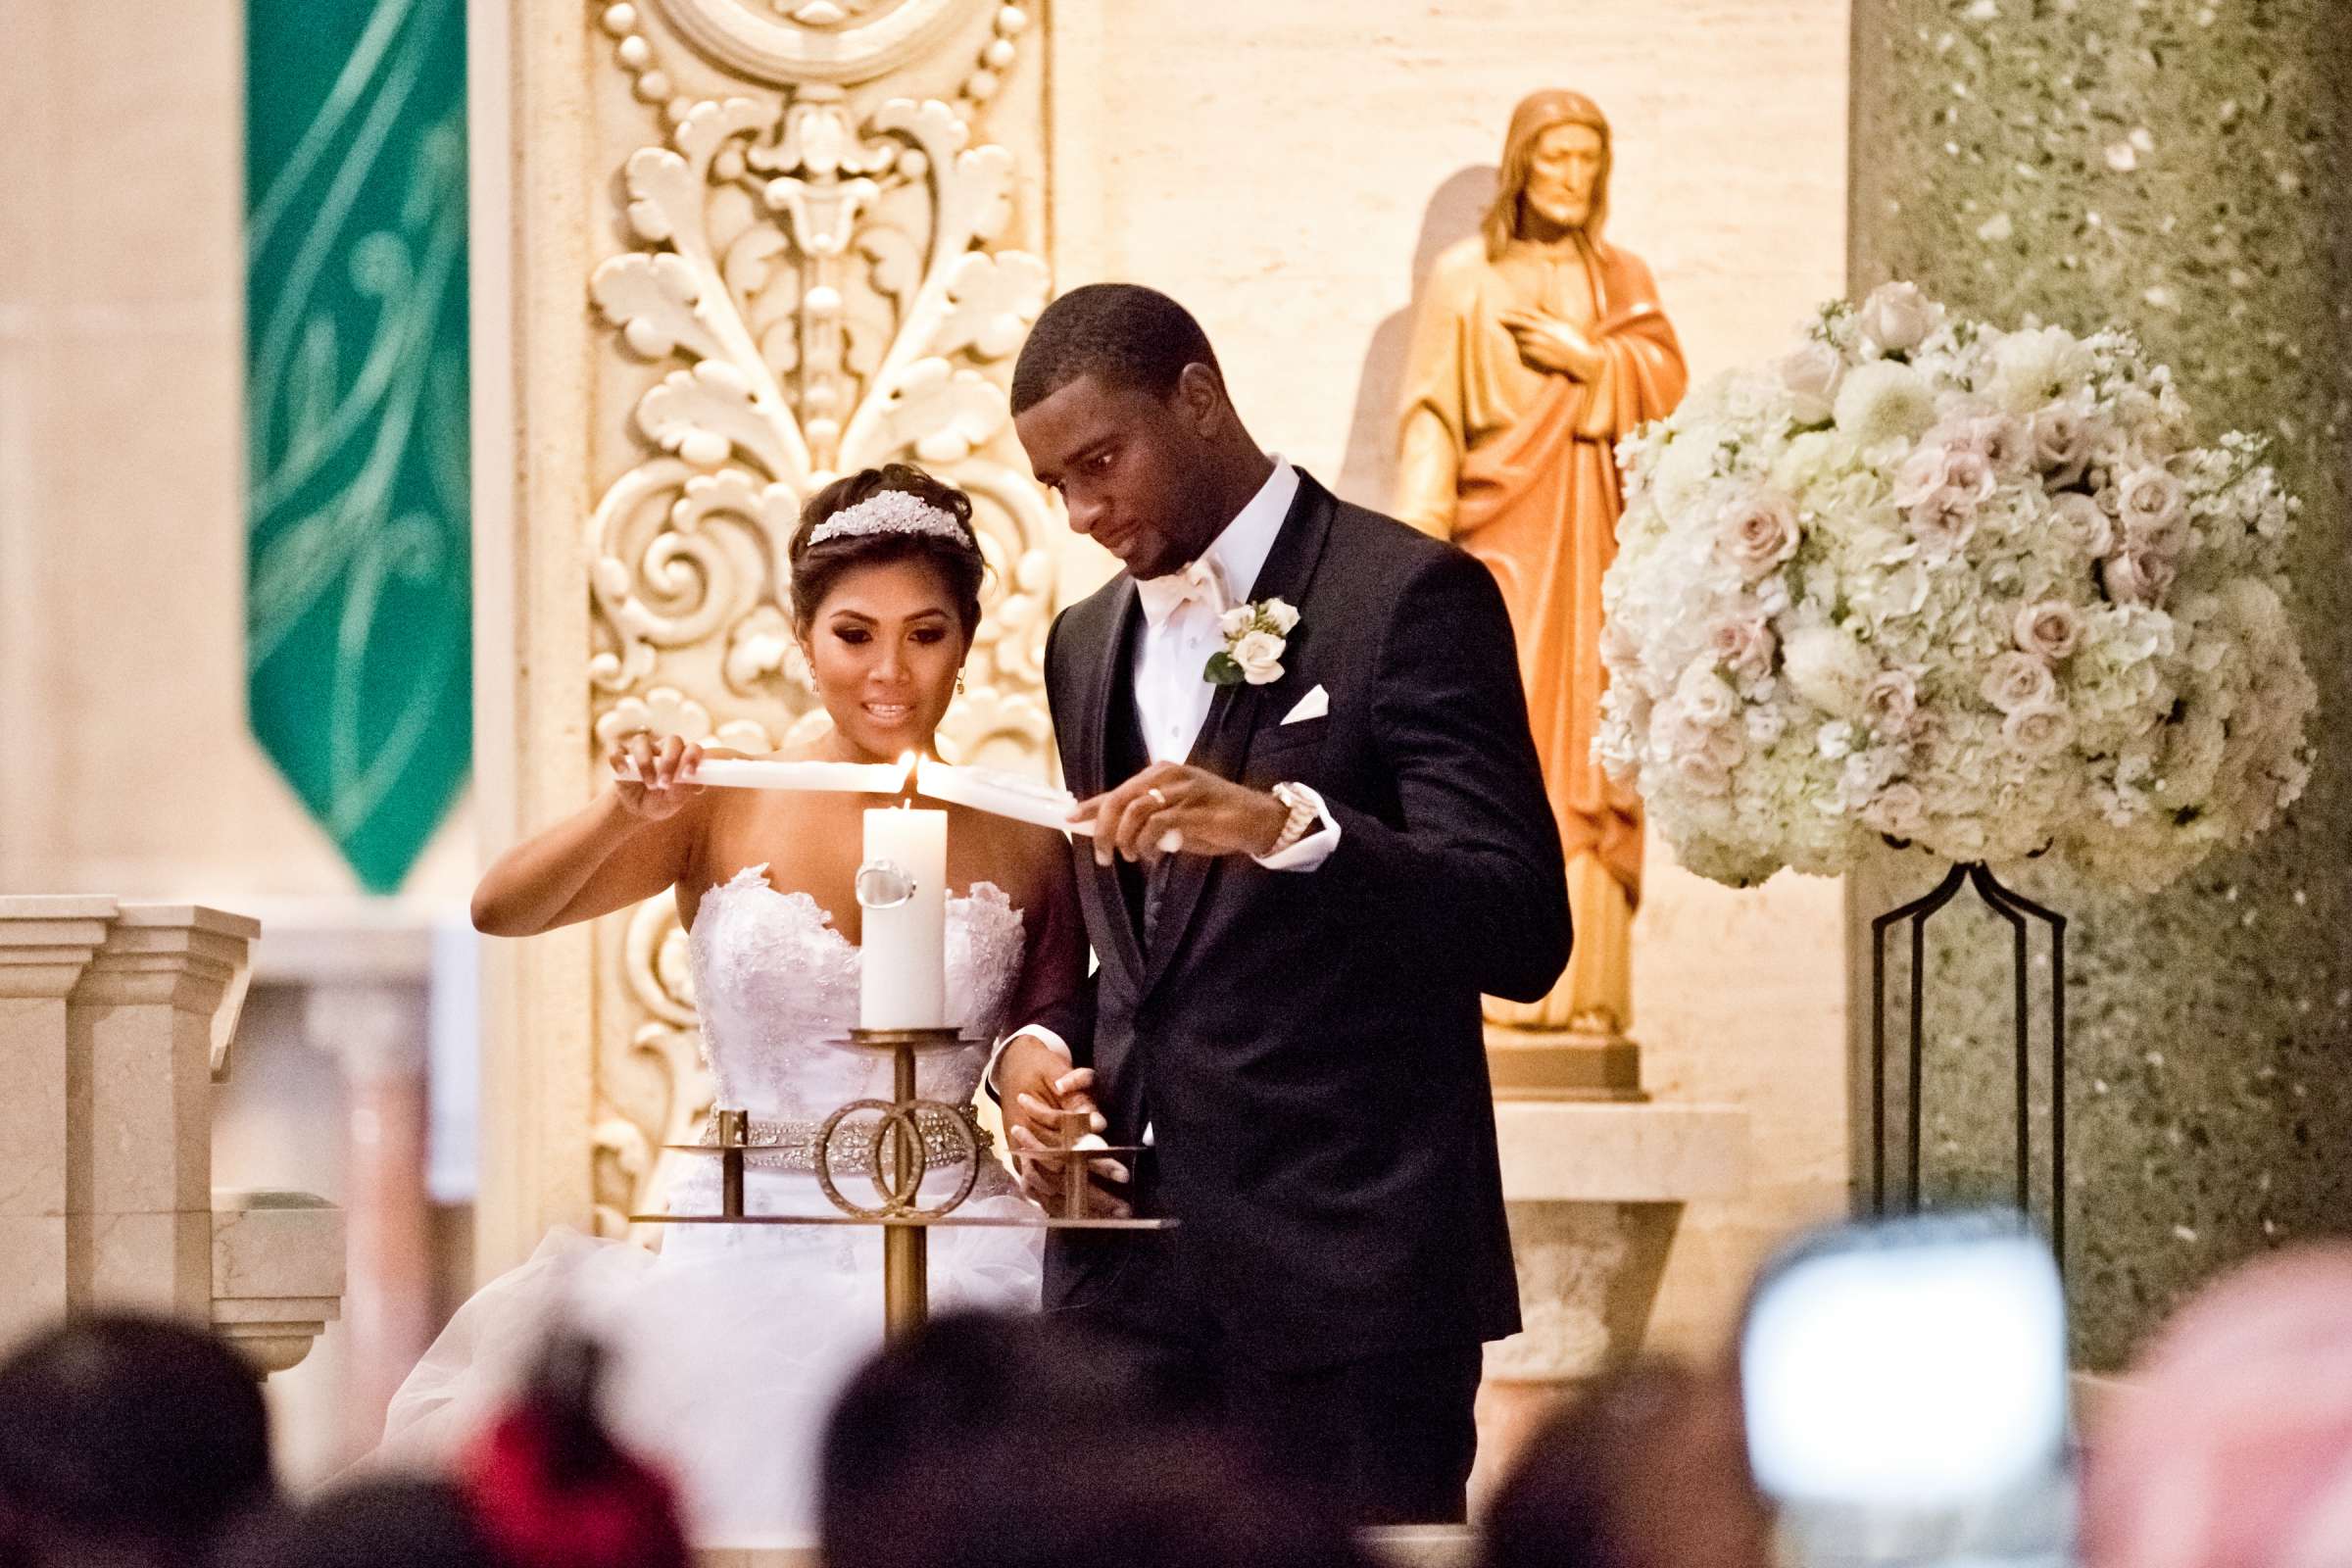
[[[2246, 1253], [2352, 1227], [2352, 31], [2338, 12], [1853, 5], [1853, 289], [1910, 277], [2004, 324], [2129, 324], [2204, 435], [2270, 435], [2305, 501], [2291, 576], [2324, 705], [2291, 820], [2150, 900], [2023, 879], [2072, 917], [2070, 1288], [2086, 1366], [2124, 1361]], [[1851, 884], [1863, 1048], [1867, 917], [1931, 875], [1886, 865]], [[1997, 1197], [2006, 926], [1955, 912], [1931, 933], [1929, 1187]], [[1867, 1159], [1860, 1131], [1853, 1147]]]

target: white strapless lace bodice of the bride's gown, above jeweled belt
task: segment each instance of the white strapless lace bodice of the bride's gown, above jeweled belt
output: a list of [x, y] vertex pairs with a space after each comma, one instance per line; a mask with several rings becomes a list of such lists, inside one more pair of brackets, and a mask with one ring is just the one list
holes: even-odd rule
[[[755, 1119], [821, 1121], [842, 1103], [889, 1095], [889, 1058], [844, 1051], [858, 1020], [858, 950], [807, 893], [779, 893], [753, 865], [703, 893], [689, 938], [703, 1060], [717, 1103]], [[962, 1105], [1021, 978], [1021, 910], [993, 882], [948, 900], [948, 1018], [974, 1044], [927, 1056], [922, 1095]]]

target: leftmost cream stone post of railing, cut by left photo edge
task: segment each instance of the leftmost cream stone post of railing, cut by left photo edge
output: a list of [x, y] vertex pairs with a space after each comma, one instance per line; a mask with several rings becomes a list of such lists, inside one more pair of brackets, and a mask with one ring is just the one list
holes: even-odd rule
[[73, 1305], [66, 997], [113, 917], [113, 898], [0, 898], [0, 1340]]

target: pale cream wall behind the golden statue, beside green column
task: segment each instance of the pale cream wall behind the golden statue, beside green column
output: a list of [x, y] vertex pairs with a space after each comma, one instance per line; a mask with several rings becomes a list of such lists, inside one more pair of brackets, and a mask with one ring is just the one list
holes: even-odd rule
[[[1192, 306], [1251, 428], [1381, 505], [1416, 284], [1470, 233], [1512, 103], [1616, 125], [1611, 240], [1649, 259], [1698, 376], [1844, 289], [1846, 0], [1124, 0], [1054, 9], [1054, 266]], [[1065, 552], [1065, 581], [1108, 564]], [[1693, 1204], [1658, 1342], [1712, 1345], [1755, 1260], [1846, 1201], [1839, 889], [1668, 870], [1635, 929], [1653, 1093], [1729, 1100], [1750, 1187]]]

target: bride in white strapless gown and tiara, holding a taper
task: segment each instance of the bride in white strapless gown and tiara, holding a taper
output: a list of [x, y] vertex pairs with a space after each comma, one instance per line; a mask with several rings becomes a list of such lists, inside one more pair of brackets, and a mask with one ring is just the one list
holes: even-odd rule
[[[971, 501], [889, 465], [818, 491], [793, 538], [793, 621], [833, 719], [814, 752], [929, 752], [981, 618]], [[715, 752], [713, 752], [715, 755]], [[689, 933], [717, 1103], [748, 1107], [743, 1206], [828, 1215], [807, 1140], [837, 1105], [889, 1095], [889, 1063], [828, 1041], [858, 1006], [856, 877], [868, 797], [713, 790], [703, 752], [630, 736], [616, 783], [508, 851], [473, 896], [475, 926], [536, 936], [670, 891]], [[635, 783], [626, 778], [635, 771]], [[1084, 978], [1084, 929], [1061, 835], [948, 806], [948, 1011], [997, 1037]], [[922, 1095], [971, 1105], [988, 1046], [929, 1056]], [[1082, 1091], [1084, 1074], [1063, 1086]], [[715, 1159], [684, 1157], [670, 1213], [717, 1213]], [[934, 1173], [922, 1201], [953, 1192]], [[854, 1197], [854, 1194], [851, 1194]], [[964, 1215], [1018, 1215], [995, 1159]], [[880, 1342], [882, 1241], [866, 1227], [673, 1225], [661, 1253], [576, 1232], [477, 1291], [393, 1396], [390, 1462], [440, 1458], [499, 1403], [550, 1314], [612, 1352], [609, 1418], [680, 1483], [703, 1540], [814, 1535], [814, 1458], [833, 1394]], [[1040, 1232], [931, 1234], [931, 1302], [1035, 1309]]]

